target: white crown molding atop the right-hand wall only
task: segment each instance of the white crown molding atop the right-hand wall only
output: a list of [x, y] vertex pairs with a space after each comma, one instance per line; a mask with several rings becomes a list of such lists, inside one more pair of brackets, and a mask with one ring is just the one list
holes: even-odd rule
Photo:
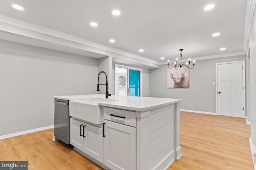
[[250, 37], [250, 31], [252, 26], [252, 18], [254, 16], [255, 5], [256, 5], [256, 0], [247, 0], [245, 21], [244, 21], [244, 51], [245, 52], [247, 52], [247, 48], [249, 44], [249, 37]]

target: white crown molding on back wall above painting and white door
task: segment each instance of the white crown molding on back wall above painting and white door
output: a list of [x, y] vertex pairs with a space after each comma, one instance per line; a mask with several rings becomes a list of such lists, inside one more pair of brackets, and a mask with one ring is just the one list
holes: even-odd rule
[[[239, 51], [235, 53], [224, 53], [224, 54], [218, 54], [218, 55], [206, 55], [201, 57], [193, 57], [192, 59], [195, 61], [198, 60], [207, 60], [207, 59], [216, 59], [216, 58], [222, 58], [222, 57], [232, 57], [232, 56], [238, 56], [238, 55], [246, 55], [246, 52]], [[175, 60], [170, 61], [169, 63], [175, 63]], [[161, 62], [160, 65], [166, 64], [167, 62]], [[182, 62], [183, 63], [183, 62]]]

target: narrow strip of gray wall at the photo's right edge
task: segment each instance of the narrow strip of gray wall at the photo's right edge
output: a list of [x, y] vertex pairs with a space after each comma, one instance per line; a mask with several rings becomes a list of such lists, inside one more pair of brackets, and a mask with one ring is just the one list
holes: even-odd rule
[[[256, 8], [254, 11], [254, 14], [256, 13]], [[252, 19], [252, 27], [250, 32], [250, 40], [249, 40], [249, 46], [250, 46], [250, 76], [253, 77], [253, 83], [250, 83], [250, 90], [251, 90], [251, 108], [250, 108], [250, 114], [251, 114], [251, 137], [252, 137], [252, 143], [254, 146], [256, 146], [256, 16], [253, 16]], [[250, 78], [251, 78], [250, 77]]]

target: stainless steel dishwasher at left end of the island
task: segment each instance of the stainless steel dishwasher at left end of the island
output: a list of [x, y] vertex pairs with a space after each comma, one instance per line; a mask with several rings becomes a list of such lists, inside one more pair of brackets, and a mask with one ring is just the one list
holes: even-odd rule
[[69, 101], [54, 100], [54, 136], [60, 141], [69, 144]]

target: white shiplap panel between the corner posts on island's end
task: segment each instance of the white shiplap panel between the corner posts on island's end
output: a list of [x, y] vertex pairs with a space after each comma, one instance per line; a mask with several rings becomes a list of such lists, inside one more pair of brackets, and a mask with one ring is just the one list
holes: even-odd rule
[[174, 161], [175, 104], [150, 110], [149, 169], [163, 170]]

